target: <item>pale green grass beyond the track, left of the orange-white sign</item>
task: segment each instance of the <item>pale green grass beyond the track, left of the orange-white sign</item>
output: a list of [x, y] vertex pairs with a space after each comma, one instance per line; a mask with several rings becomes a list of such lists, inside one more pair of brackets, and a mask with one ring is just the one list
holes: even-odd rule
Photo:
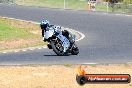
[[[66, 9], [87, 9], [87, 0], [65, 0]], [[63, 8], [64, 0], [16, 0], [18, 5]]]

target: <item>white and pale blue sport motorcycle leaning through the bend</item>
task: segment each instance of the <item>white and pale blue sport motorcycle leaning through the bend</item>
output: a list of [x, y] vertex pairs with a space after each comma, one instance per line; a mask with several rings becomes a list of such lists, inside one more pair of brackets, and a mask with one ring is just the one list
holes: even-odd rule
[[[70, 32], [69, 36], [71, 36], [71, 40], [63, 34], [60, 27], [57, 28], [54, 25], [50, 25], [44, 32], [44, 38], [48, 42], [48, 48], [53, 49], [58, 56], [77, 55], [79, 53], [78, 46], [75, 44], [76, 36]], [[71, 44], [70, 41], [73, 43]]]

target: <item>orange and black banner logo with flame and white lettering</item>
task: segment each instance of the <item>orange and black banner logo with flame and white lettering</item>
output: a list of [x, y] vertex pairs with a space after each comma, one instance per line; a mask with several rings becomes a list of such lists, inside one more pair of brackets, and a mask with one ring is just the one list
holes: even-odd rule
[[85, 83], [130, 83], [129, 74], [87, 74], [86, 67], [80, 65], [76, 69], [76, 81], [79, 85]]

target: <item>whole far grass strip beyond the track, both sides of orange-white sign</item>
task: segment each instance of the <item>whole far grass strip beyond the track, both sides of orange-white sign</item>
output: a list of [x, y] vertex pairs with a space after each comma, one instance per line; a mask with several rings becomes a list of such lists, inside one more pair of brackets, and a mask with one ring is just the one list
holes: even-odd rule
[[[76, 9], [76, 10], [88, 10], [88, 2], [87, 0], [65, 0], [65, 9]], [[64, 0], [16, 0], [16, 4], [18, 5], [26, 5], [26, 6], [40, 6], [40, 7], [49, 7], [49, 8], [64, 8]], [[123, 6], [122, 6], [123, 7]], [[97, 11], [107, 11], [106, 5], [97, 5]], [[128, 8], [116, 8], [113, 10], [109, 7], [109, 12], [131, 12], [132, 6]]]

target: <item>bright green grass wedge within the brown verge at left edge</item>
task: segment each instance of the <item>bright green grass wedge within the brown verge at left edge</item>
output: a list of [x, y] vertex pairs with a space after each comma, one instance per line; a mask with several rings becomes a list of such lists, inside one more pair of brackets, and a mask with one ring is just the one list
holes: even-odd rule
[[0, 23], [0, 41], [14, 40], [14, 39], [27, 39], [36, 37], [34, 34], [27, 32], [25, 29], [10, 26], [5, 23]]

